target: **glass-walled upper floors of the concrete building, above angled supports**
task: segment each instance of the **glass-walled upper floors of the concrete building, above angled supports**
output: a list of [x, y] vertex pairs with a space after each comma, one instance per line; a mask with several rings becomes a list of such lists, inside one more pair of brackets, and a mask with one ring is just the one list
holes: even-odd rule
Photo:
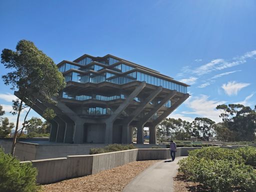
[[100, 83], [108, 81], [124, 84], [138, 80], [181, 93], [187, 93], [187, 86], [189, 86], [158, 71], [110, 54], [103, 57], [84, 54], [74, 61], [63, 60], [57, 66], [63, 73], [66, 82]]

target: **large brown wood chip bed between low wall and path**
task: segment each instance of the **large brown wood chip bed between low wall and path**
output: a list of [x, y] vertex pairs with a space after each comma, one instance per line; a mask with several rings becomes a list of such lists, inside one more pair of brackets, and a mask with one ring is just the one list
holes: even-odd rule
[[122, 191], [137, 174], [157, 161], [134, 161], [96, 174], [41, 185], [42, 191]]

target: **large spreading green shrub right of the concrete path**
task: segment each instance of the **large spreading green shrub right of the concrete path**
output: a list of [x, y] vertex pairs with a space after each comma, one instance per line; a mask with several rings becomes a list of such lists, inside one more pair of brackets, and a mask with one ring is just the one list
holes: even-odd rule
[[[256, 151], [255, 148], [250, 150]], [[246, 165], [241, 151], [248, 149], [226, 149], [219, 147], [205, 147], [189, 151], [187, 158], [179, 160], [179, 171], [194, 182], [200, 182], [213, 192], [233, 190], [255, 191], [256, 170]], [[244, 163], [245, 162], [245, 163]]]

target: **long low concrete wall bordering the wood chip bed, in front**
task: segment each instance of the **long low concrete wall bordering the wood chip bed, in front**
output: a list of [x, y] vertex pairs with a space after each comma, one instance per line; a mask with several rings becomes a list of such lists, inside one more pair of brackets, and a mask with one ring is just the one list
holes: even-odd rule
[[[176, 156], [187, 155], [189, 150], [200, 147], [178, 147]], [[95, 174], [136, 160], [168, 159], [168, 148], [141, 148], [89, 155], [68, 155], [62, 158], [50, 158], [31, 162], [38, 170], [37, 183], [45, 184], [59, 180]]]

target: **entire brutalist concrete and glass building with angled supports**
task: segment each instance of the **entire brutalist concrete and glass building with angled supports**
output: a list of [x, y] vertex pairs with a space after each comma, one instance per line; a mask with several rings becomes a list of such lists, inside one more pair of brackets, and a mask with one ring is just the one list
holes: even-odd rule
[[137, 143], [143, 143], [143, 127], [149, 127], [154, 144], [157, 124], [189, 96], [187, 84], [110, 54], [84, 54], [57, 66], [66, 81], [53, 98], [57, 104], [38, 100], [32, 106], [40, 115], [47, 107], [54, 109], [53, 142], [131, 143], [136, 127]]

